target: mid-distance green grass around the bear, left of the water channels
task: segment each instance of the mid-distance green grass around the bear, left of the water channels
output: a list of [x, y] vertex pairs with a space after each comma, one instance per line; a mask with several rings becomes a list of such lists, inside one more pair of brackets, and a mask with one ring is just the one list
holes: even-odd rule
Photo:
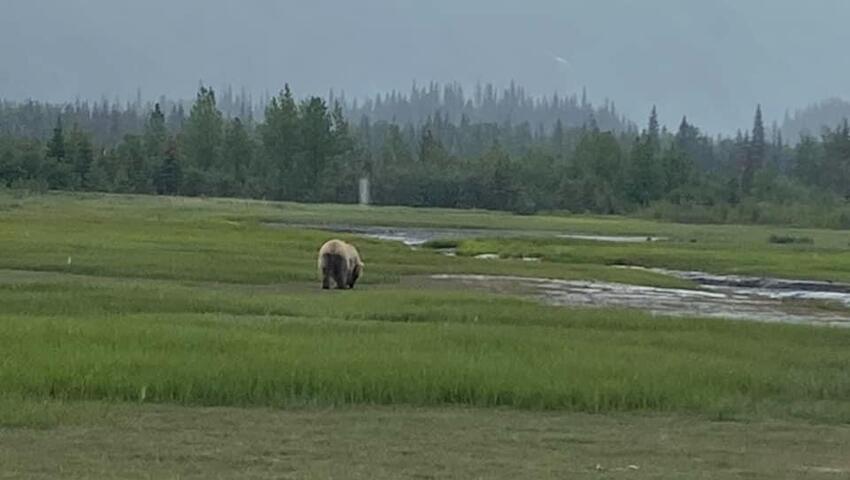
[[[306, 282], [317, 279], [315, 255], [331, 235], [258, 223], [258, 212], [279, 211], [277, 207], [288, 204], [94, 194], [6, 198], [0, 205], [3, 202], [14, 206], [0, 210], [0, 268], [6, 269], [246, 284]], [[296, 211], [305, 208], [293, 206]], [[327, 207], [309, 208], [318, 217]], [[398, 282], [405, 275], [465, 272], [690, 285], [605, 265], [565, 269], [520, 261], [480, 262], [410, 251], [395, 242], [334, 236], [359, 248], [366, 262], [365, 284]]]

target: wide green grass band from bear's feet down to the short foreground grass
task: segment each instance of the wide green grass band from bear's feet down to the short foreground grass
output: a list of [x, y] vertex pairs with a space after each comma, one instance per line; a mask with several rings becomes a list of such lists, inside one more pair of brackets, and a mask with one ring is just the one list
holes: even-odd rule
[[462, 292], [349, 293], [6, 285], [0, 385], [3, 395], [58, 400], [850, 421], [844, 330], [565, 310]]

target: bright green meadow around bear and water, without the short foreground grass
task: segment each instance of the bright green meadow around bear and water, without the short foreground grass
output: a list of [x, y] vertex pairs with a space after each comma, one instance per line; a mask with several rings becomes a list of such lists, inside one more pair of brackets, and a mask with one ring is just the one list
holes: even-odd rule
[[[669, 240], [469, 239], [447, 257], [339, 235], [360, 249], [364, 277], [353, 291], [322, 291], [315, 254], [337, 235], [268, 222], [498, 225]], [[771, 235], [812, 241], [777, 244]], [[621, 218], [4, 193], [0, 446], [32, 428], [93, 425], [92, 412], [153, 407], [177, 418], [210, 407], [362, 409], [366, 417], [388, 415], [380, 408], [435, 416], [470, 408], [479, 419], [492, 411], [495, 422], [513, 415], [507, 409], [846, 426], [848, 330], [549, 307], [436, 287], [423, 276], [691, 287], [612, 266], [625, 263], [850, 280], [847, 240], [839, 231]], [[491, 252], [544, 260], [471, 258]]]

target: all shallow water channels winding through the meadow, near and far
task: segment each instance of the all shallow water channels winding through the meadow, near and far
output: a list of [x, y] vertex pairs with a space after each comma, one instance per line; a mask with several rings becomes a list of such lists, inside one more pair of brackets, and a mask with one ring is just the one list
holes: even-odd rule
[[[655, 242], [664, 237], [605, 236], [567, 234], [557, 231], [498, 230], [466, 228], [407, 228], [356, 226], [343, 224], [273, 226], [313, 228], [353, 233], [380, 240], [398, 241], [412, 248], [437, 239], [473, 237], [558, 237], [600, 242]], [[438, 249], [443, 255], [455, 256], [452, 248]], [[475, 258], [494, 260], [495, 253]], [[540, 261], [524, 257], [525, 261]], [[832, 302], [850, 308], [850, 285], [810, 280], [716, 275], [697, 271], [622, 266], [670, 275], [693, 281], [699, 290], [657, 288], [594, 281], [567, 281], [545, 278], [482, 275], [436, 275], [438, 281], [461, 282], [490, 291], [531, 291], [536, 298], [553, 305], [636, 308], [654, 314], [719, 317], [765, 322], [850, 326], [850, 310], [816, 308], [806, 302]]]

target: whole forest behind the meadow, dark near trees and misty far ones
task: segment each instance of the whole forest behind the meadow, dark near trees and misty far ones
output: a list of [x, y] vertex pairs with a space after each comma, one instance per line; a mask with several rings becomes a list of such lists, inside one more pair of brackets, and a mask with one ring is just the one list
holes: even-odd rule
[[647, 113], [638, 127], [611, 102], [516, 85], [0, 102], [0, 187], [355, 202], [368, 176], [378, 204], [850, 228], [846, 120], [788, 144], [756, 106], [731, 138]]

